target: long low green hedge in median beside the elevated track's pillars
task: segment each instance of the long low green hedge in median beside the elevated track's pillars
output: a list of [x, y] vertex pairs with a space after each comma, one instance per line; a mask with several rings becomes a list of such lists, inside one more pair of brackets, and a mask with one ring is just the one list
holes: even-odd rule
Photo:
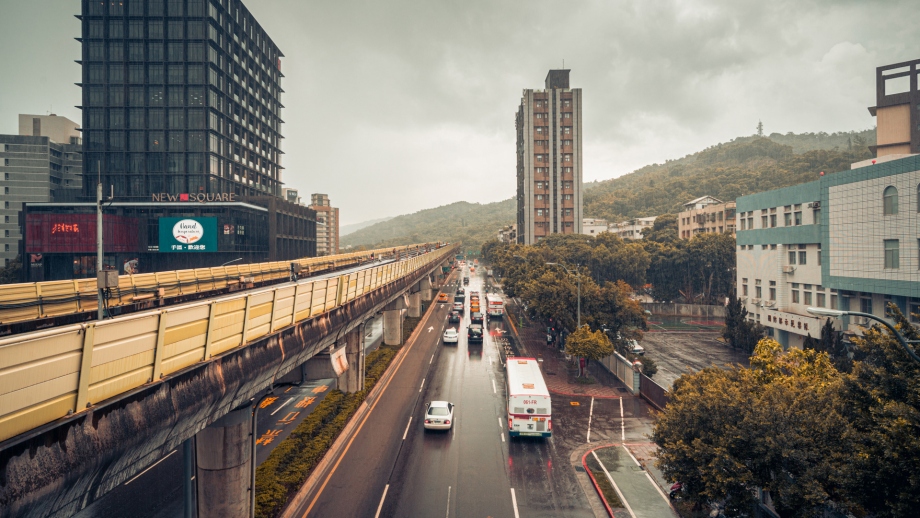
[[[411, 325], [411, 333], [421, 319], [411, 320], [414, 322], [406, 319], [404, 332]], [[381, 345], [368, 354], [364, 390], [353, 394], [330, 391], [256, 469], [257, 518], [273, 518], [281, 513], [386, 372], [399, 349], [400, 346]]]

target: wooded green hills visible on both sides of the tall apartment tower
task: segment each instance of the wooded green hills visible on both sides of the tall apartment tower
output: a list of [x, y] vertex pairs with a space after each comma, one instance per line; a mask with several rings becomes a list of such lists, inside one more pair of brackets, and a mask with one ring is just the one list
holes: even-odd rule
[[[742, 194], [788, 187], [833, 173], [871, 156], [875, 130], [739, 137], [619, 178], [586, 184], [585, 216], [622, 221], [676, 214], [700, 196], [731, 201]], [[509, 173], [511, 174], [511, 173]], [[511, 193], [513, 195], [513, 193]], [[478, 204], [457, 202], [398, 216], [341, 238], [345, 246], [395, 246], [463, 241], [468, 250], [494, 239], [515, 222], [514, 198]]]

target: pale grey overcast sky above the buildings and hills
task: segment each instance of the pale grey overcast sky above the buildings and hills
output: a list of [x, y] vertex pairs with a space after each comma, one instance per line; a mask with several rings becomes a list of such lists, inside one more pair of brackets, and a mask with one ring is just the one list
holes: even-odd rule
[[[909, 1], [245, 2], [285, 54], [284, 181], [344, 224], [514, 195], [525, 88], [570, 68], [584, 179], [754, 133], [874, 126], [875, 67], [920, 58]], [[76, 0], [2, 0], [0, 133], [81, 120]]]

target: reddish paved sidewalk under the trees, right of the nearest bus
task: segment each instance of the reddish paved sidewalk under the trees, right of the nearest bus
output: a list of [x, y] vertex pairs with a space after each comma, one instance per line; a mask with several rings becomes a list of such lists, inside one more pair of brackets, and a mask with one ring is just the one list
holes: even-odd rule
[[[515, 315], [516, 321], [517, 316], [522, 311], [510, 299], [505, 301], [505, 305], [513, 308], [512, 314]], [[506, 311], [506, 313], [509, 312]], [[523, 346], [522, 352], [538, 360], [543, 360], [543, 373], [546, 374], [544, 379], [550, 392], [564, 396], [587, 396], [599, 399], [615, 399], [629, 394], [618, 390], [618, 388], [625, 389], [626, 386], [616, 377], [603, 371], [603, 367], [600, 365], [589, 365], [588, 369], [589, 374], [597, 380], [596, 383], [585, 385], [576, 382], [575, 367], [572, 366], [572, 371], [570, 372], [570, 366], [565, 361], [565, 353], [558, 350], [554, 345], [547, 345], [546, 333], [543, 332], [544, 330], [541, 326], [537, 323], [528, 322], [527, 327], [518, 327], [510, 318], [508, 319], [508, 324], [511, 327], [511, 333], [515, 341]], [[603, 372], [598, 372], [599, 370]]]

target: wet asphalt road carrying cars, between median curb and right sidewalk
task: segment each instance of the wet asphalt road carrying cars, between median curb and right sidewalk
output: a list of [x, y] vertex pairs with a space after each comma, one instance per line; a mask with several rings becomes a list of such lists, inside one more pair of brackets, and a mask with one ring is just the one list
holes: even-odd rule
[[[470, 277], [467, 293], [478, 290], [484, 298], [480, 272]], [[451, 294], [454, 289], [445, 288]], [[469, 297], [466, 309], [457, 345], [440, 343], [447, 305], [423, 320], [418, 340], [407, 344], [405, 360], [371, 403], [337, 468], [321, 478], [296, 516], [594, 516], [575, 479], [570, 448], [558, 447], [566, 441], [562, 434], [548, 440], [507, 437], [495, 342], [506, 324], [491, 321], [484, 343], [470, 345]], [[424, 430], [420, 419], [431, 400], [457, 405], [452, 430]], [[561, 405], [568, 401], [554, 397], [553, 412]], [[586, 421], [584, 410], [571, 420]], [[583, 440], [573, 435], [571, 442]]]

